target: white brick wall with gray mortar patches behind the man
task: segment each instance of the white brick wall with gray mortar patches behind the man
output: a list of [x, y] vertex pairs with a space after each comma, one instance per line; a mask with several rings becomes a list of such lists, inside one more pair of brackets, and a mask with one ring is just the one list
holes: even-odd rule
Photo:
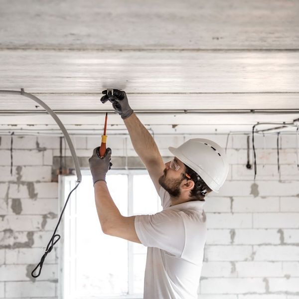
[[[163, 156], [190, 138], [226, 146], [227, 135], [155, 136]], [[208, 234], [199, 299], [299, 299], [299, 170], [295, 136], [255, 135], [257, 176], [247, 163], [247, 136], [231, 135], [227, 181], [206, 197]], [[90, 157], [101, 137], [71, 137], [78, 156]], [[13, 137], [0, 142], [0, 298], [57, 299], [58, 247], [47, 256], [40, 280], [28, 269], [39, 262], [58, 221], [58, 184], [51, 182], [58, 137]], [[70, 155], [69, 149], [63, 153]], [[129, 136], [109, 136], [113, 155], [137, 156]], [[32, 236], [30, 246], [28, 233]], [[30, 237], [31, 238], [31, 237]], [[13, 248], [18, 242], [19, 248]], [[31, 267], [31, 268], [30, 268]]]

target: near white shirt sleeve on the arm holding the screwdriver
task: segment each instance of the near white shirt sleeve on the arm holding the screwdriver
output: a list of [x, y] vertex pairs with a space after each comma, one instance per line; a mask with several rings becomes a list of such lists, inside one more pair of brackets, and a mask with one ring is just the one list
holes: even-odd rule
[[163, 210], [136, 215], [135, 230], [144, 246], [156, 247], [180, 257], [185, 246], [185, 227], [179, 211]]

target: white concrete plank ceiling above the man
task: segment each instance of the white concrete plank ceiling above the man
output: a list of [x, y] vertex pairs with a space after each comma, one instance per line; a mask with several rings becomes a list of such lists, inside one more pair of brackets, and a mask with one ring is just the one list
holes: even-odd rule
[[[125, 131], [111, 103], [100, 102], [106, 88], [125, 90], [155, 134], [291, 123], [299, 118], [298, 12], [291, 0], [1, 1], [0, 90], [24, 88], [63, 113], [72, 132], [102, 130], [106, 111], [107, 134]], [[0, 95], [0, 134], [57, 129], [35, 106]]]

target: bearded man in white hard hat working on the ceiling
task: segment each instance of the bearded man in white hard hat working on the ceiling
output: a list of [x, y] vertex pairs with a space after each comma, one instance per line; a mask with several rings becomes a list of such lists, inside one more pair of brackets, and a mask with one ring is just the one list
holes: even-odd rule
[[[154, 215], [122, 216], [108, 191], [105, 175], [112, 163], [94, 149], [89, 165], [96, 207], [105, 234], [148, 247], [144, 299], [197, 299], [206, 240], [204, 197], [219, 192], [228, 173], [225, 151], [206, 139], [190, 139], [163, 163], [159, 150], [128, 103], [124, 91], [103, 91], [129, 131], [134, 149], [149, 171], [163, 210]], [[145, 190], [146, 192], [146, 190]]]

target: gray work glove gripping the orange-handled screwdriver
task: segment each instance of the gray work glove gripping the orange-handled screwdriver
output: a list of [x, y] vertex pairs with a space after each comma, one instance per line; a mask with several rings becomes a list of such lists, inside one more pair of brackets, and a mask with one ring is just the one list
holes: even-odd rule
[[111, 169], [112, 166], [112, 163], [110, 162], [111, 149], [106, 149], [103, 158], [100, 157], [99, 149], [100, 147], [95, 148], [92, 156], [88, 160], [94, 185], [98, 180], [103, 180], [106, 182], [106, 173], [109, 169]]

